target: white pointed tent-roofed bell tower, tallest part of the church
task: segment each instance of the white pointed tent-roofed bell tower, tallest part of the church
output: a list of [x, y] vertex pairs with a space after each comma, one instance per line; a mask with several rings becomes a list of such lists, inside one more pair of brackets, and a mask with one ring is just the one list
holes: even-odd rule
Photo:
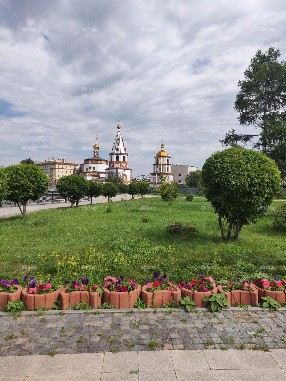
[[109, 167], [106, 168], [106, 179], [109, 173], [119, 173], [125, 183], [132, 181], [132, 170], [128, 168], [128, 154], [124, 147], [124, 142], [120, 133], [120, 124], [118, 121], [117, 134], [114, 140], [112, 151], [109, 154]]

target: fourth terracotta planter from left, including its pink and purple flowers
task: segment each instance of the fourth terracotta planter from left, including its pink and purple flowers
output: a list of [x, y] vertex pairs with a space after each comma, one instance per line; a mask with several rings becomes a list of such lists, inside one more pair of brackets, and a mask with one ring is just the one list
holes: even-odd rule
[[103, 287], [103, 302], [112, 304], [116, 308], [134, 308], [141, 293], [141, 286], [133, 281], [124, 282], [124, 277], [115, 279], [106, 277]]

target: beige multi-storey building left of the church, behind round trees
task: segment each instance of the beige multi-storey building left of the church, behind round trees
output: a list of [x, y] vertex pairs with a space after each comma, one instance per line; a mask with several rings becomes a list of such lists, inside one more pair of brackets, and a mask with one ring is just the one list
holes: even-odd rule
[[35, 165], [41, 168], [41, 170], [48, 176], [50, 179], [50, 187], [55, 187], [59, 178], [73, 173], [77, 163], [66, 159], [51, 159], [37, 161], [35, 162]]

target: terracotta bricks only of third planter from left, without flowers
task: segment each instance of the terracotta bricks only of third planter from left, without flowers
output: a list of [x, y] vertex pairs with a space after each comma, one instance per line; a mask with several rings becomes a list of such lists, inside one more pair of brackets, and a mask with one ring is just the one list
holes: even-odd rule
[[101, 297], [98, 291], [71, 291], [67, 292], [68, 287], [61, 290], [59, 294], [61, 300], [61, 309], [66, 310], [67, 307], [76, 307], [78, 303], [85, 302], [92, 306], [94, 309], [100, 306]]

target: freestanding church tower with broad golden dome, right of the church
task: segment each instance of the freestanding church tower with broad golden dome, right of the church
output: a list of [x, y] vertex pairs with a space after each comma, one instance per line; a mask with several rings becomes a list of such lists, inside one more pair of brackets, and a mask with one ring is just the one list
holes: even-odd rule
[[161, 144], [161, 150], [154, 156], [153, 172], [151, 176], [151, 186], [161, 184], [160, 177], [164, 176], [165, 181], [170, 184], [174, 181], [174, 174], [172, 173], [172, 165], [170, 163], [170, 156], [164, 150], [164, 144]]

